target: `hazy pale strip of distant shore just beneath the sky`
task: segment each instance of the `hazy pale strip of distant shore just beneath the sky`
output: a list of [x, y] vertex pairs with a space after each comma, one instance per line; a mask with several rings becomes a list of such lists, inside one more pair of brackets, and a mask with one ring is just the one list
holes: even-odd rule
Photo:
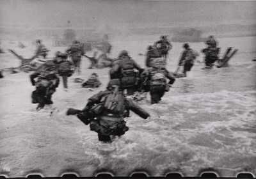
[[[199, 27], [129, 27], [125, 28], [113, 28], [108, 29], [92, 29], [83, 28], [59, 28], [59, 27], [44, 27], [40, 28], [22, 28], [22, 27], [3, 27], [0, 26], [0, 40], [28, 40], [28, 39], [44, 39], [53, 40], [54, 38], [63, 38], [65, 30], [72, 29], [75, 31], [77, 38], [90, 39], [97, 37], [98, 40], [102, 38], [104, 34], [109, 35], [111, 38], [132, 38], [132, 36], [138, 37], [151, 37], [159, 35], [168, 35], [172, 37], [175, 33], [184, 29], [197, 29], [202, 31], [202, 38], [209, 35], [214, 35], [216, 38], [228, 38], [228, 37], [244, 37], [244, 36], [256, 36], [256, 24], [221, 24], [218, 26], [199, 26]], [[156, 39], [154, 38], [154, 39]], [[151, 39], [151, 38], [150, 38]]]

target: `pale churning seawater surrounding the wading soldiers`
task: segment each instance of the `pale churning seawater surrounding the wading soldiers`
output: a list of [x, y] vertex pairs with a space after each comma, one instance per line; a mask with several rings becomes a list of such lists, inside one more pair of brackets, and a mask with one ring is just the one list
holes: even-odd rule
[[[143, 49], [144, 42], [136, 43]], [[130, 48], [134, 54], [138, 51], [136, 45]], [[179, 54], [180, 48], [173, 51]], [[202, 65], [195, 65], [188, 77], [177, 79], [160, 104], [150, 105], [149, 95], [139, 102], [150, 113], [150, 120], [131, 113], [125, 119], [129, 131], [108, 145], [100, 143], [97, 133], [76, 116], [65, 115], [68, 107], [81, 109], [89, 97], [106, 88], [108, 69], [97, 70], [102, 86], [88, 91], [73, 82], [75, 77], [87, 79], [95, 72], [86, 69], [88, 61], [83, 61], [83, 75], [68, 79], [68, 92], [61, 82], [53, 95], [54, 104], [42, 111], [31, 104], [34, 87], [29, 74], [6, 74], [0, 84], [0, 173], [60, 176], [60, 171], [68, 169], [83, 176], [106, 170], [127, 176], [140, 169], [151, 176], [168, 171], [196, 176], [204, 168], [214, 168], [220, 176], [256, 173], [255, 66], [248, 60], [235, 65], [241, 57], [253, 55], [237, 55], [230, 68], [202, 70]], [[1, 64], [11, 65], [9, 56], [1, 56]], [[176, 61], [170, 61], [168, 68], [175, 65]]]

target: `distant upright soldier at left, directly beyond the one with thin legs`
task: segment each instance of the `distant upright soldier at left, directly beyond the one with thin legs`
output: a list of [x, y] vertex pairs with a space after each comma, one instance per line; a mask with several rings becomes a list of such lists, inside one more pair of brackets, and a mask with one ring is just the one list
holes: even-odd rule
[[74, 40], [72, 45], [67, 49], [67, 54], [71, 56], [75, 70], [77, 69], [78, 74], [80, 74], [81, 57], [84, 54], [83, 44], [78, 40]]

